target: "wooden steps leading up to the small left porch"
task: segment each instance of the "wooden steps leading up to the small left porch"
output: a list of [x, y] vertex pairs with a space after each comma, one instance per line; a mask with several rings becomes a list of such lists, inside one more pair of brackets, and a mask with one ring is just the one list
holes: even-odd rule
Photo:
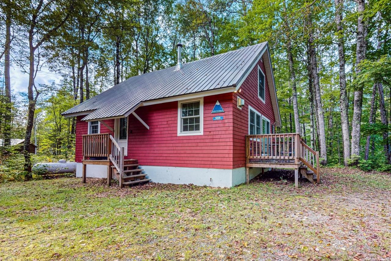
[[[138, 161], [136, 159], [124, 159], [124, 174], [122, 176], [122, 185], [129, 187], [130, 185], [140, 185], [149, 182], [151, 179], [145, 178], [147, 174], [142, 174], [143, 169], [138, 169]], [[120, 179], [120, 173], [115, 166], [113, 168], [113, 175]]]

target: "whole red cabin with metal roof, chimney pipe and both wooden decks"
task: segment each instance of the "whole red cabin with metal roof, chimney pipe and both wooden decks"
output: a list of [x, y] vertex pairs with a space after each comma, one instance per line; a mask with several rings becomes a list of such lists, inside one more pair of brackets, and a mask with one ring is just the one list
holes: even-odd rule
[[[264, 168], [307, 166], [317, 153], [281, 125], [267, 42], [134, 76], [68, 111], [76, 175], [233, 187]], [[319, 172], [316, 172], [319, 173]], [[308, 175], [308, 174], [307, 174]], [[319, 177], [319, 175], [317, 175]]]

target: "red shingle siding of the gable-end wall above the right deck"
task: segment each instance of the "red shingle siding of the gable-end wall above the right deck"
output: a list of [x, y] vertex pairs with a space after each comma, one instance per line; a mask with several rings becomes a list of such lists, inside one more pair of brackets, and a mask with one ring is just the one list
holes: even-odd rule
[[[263, 62], [258, 61], [258, 65], [265, 73]], [[266, 73], [265, 73], [266, 75]], [[245, 135], [248, 133], [248, 114], [249, 105], [263, 116], [270, 120], [270, 127], [275, 122], [273, 106], [271, 104], [269, 86], [265, 76], [265, 103], [258, 98], [258, 66], [247, 76], [246, 80], [240, 86], [240, 93], [233, 95], [233, 169], [244, 167], [246, 163], [246, 144]], [[237, 96], [244, 99], [244, 107], [240, 110], [237, 107]], [[271, 132], [271, 131], [270, 131]]]

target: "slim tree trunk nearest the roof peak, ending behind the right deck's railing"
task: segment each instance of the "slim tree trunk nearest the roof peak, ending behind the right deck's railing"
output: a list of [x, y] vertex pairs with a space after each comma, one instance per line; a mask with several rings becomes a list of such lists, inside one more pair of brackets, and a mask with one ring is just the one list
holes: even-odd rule
[[285, 17], [285, 35], [287, 37], [287, 54], [289, 60], [289, 74], [292, 87], [292, 103], [293, 103], [293, 115], [294, 115], [294, 126], [295, 132], [301, 133], [300, 131], [300, 120], [299, 120], [299, 109], [297, 102], [297, 91], [296, 91], [296, 74], [294, 71], [293, 55], [292, 55], [292, 42], [291, 36], [289, 35], [288, 18], [287, 18], [287, 4], [283, 1], [284, 17]]

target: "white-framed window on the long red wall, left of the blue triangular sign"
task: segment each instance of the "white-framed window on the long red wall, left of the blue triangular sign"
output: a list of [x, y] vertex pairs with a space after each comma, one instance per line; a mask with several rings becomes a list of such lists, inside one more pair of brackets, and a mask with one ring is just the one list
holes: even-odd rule
[[203, 134], [203, 99], [178, 102], [178, 135]]

